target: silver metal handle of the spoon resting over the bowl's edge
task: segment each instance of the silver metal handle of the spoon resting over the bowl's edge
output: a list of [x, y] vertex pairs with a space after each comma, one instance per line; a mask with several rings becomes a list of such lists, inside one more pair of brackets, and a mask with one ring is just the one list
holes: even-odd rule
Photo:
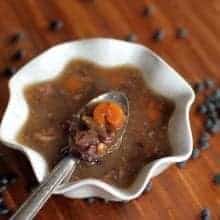
[[10, 220], [31, 220], [50, 198], [56, 187], [72, 172], [77, 160], [72, 157], [63, 158], [21, 205]]

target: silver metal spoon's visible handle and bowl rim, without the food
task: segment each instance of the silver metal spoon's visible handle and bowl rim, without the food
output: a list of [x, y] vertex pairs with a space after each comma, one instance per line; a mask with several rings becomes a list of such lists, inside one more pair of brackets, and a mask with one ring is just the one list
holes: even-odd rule
[[[104, 93], [90, 102], [88, 102], [78, 113], [77, 117], [90, 106], [93, 106], [103, 101], [114, 101], [120, 104], [123, 108], [126, 121], [123, 129], [114, 145], [120, 146], [122, 137], [126, 131], [128, 118], [129, 118], [129, 102], [125, 94], [117, 91]], [[33, 219], [46, 201], [50, 198], [57, 187], [67, 178], [72, 172], [74, 172], [79, 159], [72, 156], [64, 157], [51, 171], [51, 173], [43, 180], [43, 182], [32, 192], [28, 199], [21, 205], [16, 213], [10, 218], [10, 220], [31, 220]]]

